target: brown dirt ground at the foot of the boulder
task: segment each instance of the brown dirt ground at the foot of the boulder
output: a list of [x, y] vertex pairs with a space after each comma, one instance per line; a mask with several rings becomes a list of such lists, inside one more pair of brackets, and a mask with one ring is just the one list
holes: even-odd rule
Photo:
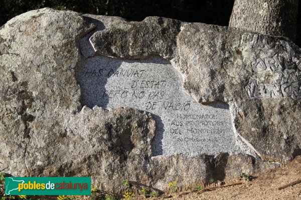
[[[301, 199], [301, 182], [283, 189], [278, 187], [301, 179], [301, 156], [276, 169], [252, 174], [256, 178], [251, 181], [234, 178], [225, 180], [224, 185], [242, 182], [242, 184], [216, 188], [207, 191], [182, 192], [170, 196], [148, 199]], [[216, 185], [212, 185], [216, 186]], [[205, 188], [206, 189], [206, 188]], [[143, 198], [135, 198], [143, 199]]]

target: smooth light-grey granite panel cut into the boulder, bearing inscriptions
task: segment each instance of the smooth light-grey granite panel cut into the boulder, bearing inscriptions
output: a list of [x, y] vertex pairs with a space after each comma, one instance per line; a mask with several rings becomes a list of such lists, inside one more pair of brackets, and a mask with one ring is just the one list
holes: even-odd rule
[[84, 61], [78, 77], [83, 105], [128, 106], [154, 116], [154, 155], [238, 151], [227, 105], [196, 102], [184, 92], [181, 73], [162, 58], [93, 56]]

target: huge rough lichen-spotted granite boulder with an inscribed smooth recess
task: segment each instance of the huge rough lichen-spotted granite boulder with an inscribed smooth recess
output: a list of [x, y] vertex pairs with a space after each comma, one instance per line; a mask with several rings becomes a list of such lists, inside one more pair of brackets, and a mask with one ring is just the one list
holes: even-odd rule
[[[285, 38], [216, 25], [29, 11], [0, 28], [0, 171], [92, 176], [120, 191], [124, 178], [165, 190], [172, 180], [184, 187], [279, 166], [301, 154], [300, 53]], [[163, 100], [184, 99], [193, 110], [99, 96], [141, 81], [103, 79], [100, 67], [170, 75]], [[194, 112], [216, 115], [226, 125], [209, 118], [210, 128], [225, 131], [173, 140], [170, 120]], [[205, 128], [183, 127], [183, 138]]]

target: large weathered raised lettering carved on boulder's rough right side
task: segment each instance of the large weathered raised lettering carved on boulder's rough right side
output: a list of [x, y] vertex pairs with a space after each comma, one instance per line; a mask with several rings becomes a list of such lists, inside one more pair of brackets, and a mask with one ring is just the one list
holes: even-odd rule
[[247, 55], [257, 56], [243, 58], [250, 72], [245, 86], [250, 98], [301, 98], [301, 58], [295, 57], [294, 50], [272, 37], [252, 33], [242, 34], [239, 46]]

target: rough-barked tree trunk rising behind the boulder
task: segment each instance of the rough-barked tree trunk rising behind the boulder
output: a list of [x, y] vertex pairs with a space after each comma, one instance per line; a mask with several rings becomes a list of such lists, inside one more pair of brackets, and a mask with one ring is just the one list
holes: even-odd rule
[[295, 40], [298, 0], [235, 0], [230, 27]]

